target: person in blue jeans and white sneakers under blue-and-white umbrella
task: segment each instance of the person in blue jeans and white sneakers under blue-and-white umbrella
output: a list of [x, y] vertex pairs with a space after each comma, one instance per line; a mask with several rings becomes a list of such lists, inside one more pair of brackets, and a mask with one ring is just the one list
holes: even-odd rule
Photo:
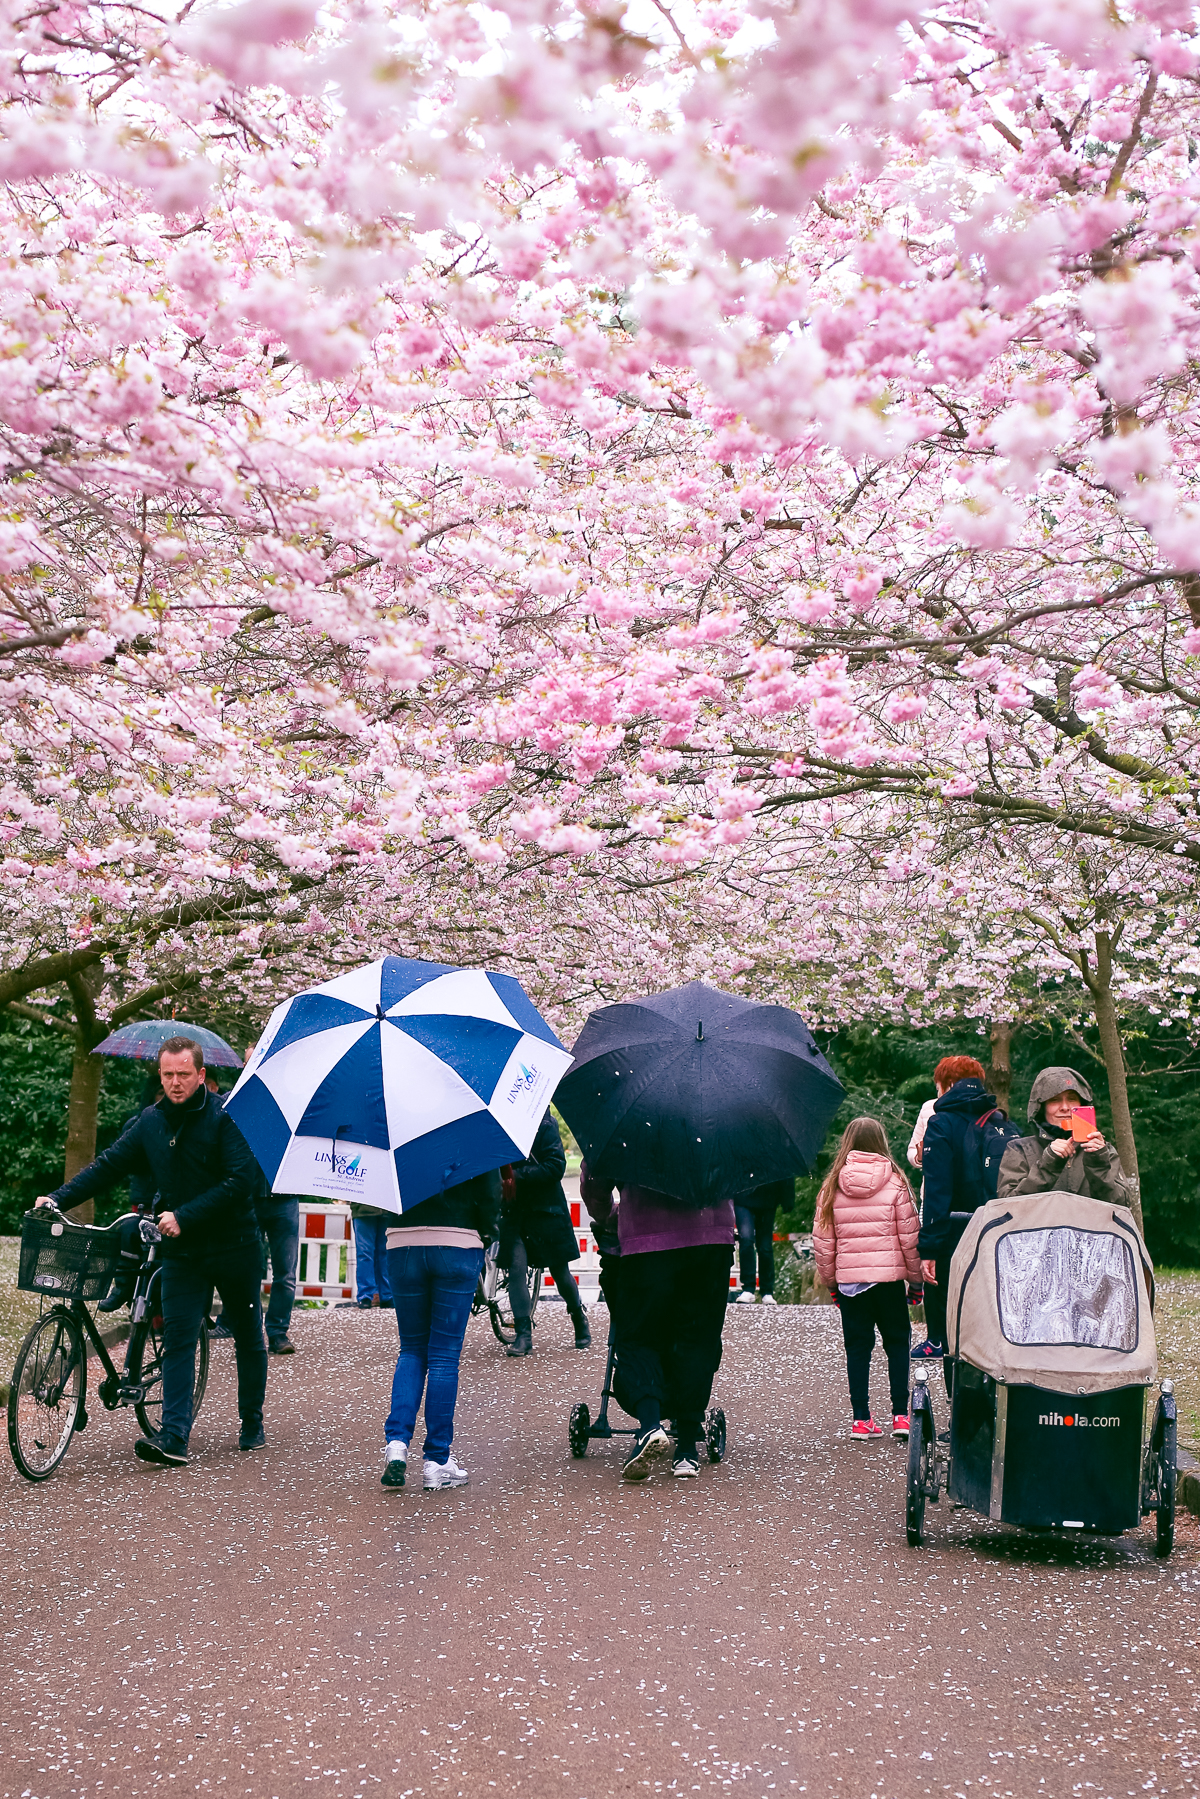
[[425, 1394], [426, 1490], [466, 1486], [453, 1443], [459, 1358], [484, 1245], [500, 1227], [500, 1171], [446, 1187], [387, 1231], [387, 1274], [399, 1329], [399, 1356], [387, 1414], [383, 1486], [403, 1486], [408, 1445]]

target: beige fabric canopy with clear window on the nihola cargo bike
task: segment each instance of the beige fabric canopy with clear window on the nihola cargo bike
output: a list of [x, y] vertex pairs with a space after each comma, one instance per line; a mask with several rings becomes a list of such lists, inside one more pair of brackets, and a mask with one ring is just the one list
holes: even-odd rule
[[982, 1205], [950, 1266], [950, 1355], [1009, 1385], [1146, 1387], [1153, 1265], [1124, 1205], [1034, 1193]]

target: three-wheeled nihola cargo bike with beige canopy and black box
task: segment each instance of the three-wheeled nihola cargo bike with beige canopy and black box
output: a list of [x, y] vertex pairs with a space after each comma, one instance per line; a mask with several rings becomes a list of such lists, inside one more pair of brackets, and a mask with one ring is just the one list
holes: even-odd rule
[[1175, 1394], [1155, 1391], [1153, 1268], [1132, 1213], [1060, 1191], [982, 1205], [954, 1252], [946, 1328], [950, 1446], [921, 1367], [909, 1544], [945, 1486], [1025, 1531], [1117, 1536], [1153, 1513], [1169, 1556]]

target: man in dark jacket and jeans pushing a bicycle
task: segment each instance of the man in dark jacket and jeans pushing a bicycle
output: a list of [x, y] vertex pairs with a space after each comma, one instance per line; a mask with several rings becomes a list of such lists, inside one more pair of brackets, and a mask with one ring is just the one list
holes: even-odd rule
[[246, 1139], [205, 1087], [203, 1051], [173, 1036], [158, 1051], [164, 1097], [74, 1180], [38, 1205], [70, 1211], [130, 1175], [149, 1177], [162, 1232], [162, 1428], [135, 1445], [142, 1461], [187, 1464], [200, 1326], [212, 1288], [234, 1333], [237, 1446], [257, 1450], [266, 1394], [261, 1259], [252, 1193], [257, 1164]]

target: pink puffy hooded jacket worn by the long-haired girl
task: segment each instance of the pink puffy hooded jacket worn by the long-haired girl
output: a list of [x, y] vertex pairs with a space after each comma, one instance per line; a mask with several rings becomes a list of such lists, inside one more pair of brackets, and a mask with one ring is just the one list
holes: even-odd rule
[[833, 1227], [813, 1225], [817, 1274], [826, 1286], [919, 1281], [918, 1214], [889, 1155], [851, 1150], [833, 1196]]

